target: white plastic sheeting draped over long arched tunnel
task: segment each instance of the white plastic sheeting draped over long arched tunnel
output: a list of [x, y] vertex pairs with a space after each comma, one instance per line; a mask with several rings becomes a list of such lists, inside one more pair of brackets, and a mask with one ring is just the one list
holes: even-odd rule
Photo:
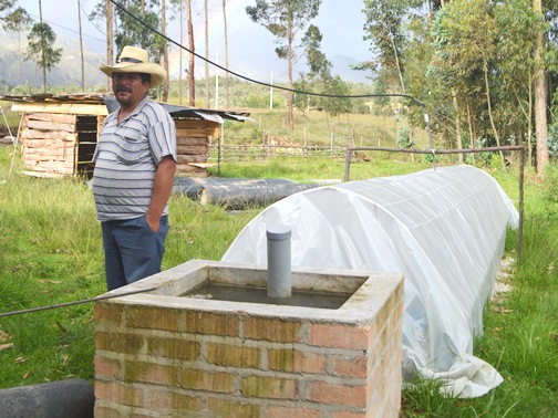
[[267, 265], [266, 230], [285, 224], [292, 265], [403, 272], [404, 379], [440, 378], [453, 395], [476, 397], [503, 380], [473, 343], [517, 222], [488, 174], [440, 167], [292, 195], [249, 222], [221, 260]]

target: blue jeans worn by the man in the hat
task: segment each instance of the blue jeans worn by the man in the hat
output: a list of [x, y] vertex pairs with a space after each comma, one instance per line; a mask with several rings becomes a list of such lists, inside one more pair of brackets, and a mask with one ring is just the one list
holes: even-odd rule
[[161, 272], [168, 220], [161, 218], [157, 233], [145, 215], [122, 221], [101, 222], [105, 253], [106, 288], [111, 291]]

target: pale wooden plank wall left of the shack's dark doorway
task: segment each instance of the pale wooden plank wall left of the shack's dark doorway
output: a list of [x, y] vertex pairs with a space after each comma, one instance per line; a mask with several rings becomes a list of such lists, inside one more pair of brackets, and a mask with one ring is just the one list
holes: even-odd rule
[[23, 165], [39, 173], [74, 175], [78, 133], [75, 115], [24, 113], [21, 132]]

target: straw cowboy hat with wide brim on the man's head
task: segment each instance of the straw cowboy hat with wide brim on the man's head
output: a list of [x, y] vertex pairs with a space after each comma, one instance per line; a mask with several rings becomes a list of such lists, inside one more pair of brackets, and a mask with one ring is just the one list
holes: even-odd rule
[[124, 46], [116, 65], [99, 63], [99, 70], [112, 77], [113, 73], [151, 74], [151, 86], [157, 87], [166, 79], [166, 71], [157, 63], [149, 62], [147, 51], [136, 46]]

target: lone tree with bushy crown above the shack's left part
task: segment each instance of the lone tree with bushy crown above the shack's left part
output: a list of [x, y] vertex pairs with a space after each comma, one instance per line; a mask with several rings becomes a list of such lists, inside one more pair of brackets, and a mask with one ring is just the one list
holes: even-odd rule
[[62, 48], [55, 49], [56, 34], [48, 23], [42, 21], [42, 3], [39, 0], [39, 23], [31, 28], [28, 35], [27, 58], [33, 60], [43, 75], [43, 92], [46, 93], [46, 71], [50, 71], [62, 59]]

